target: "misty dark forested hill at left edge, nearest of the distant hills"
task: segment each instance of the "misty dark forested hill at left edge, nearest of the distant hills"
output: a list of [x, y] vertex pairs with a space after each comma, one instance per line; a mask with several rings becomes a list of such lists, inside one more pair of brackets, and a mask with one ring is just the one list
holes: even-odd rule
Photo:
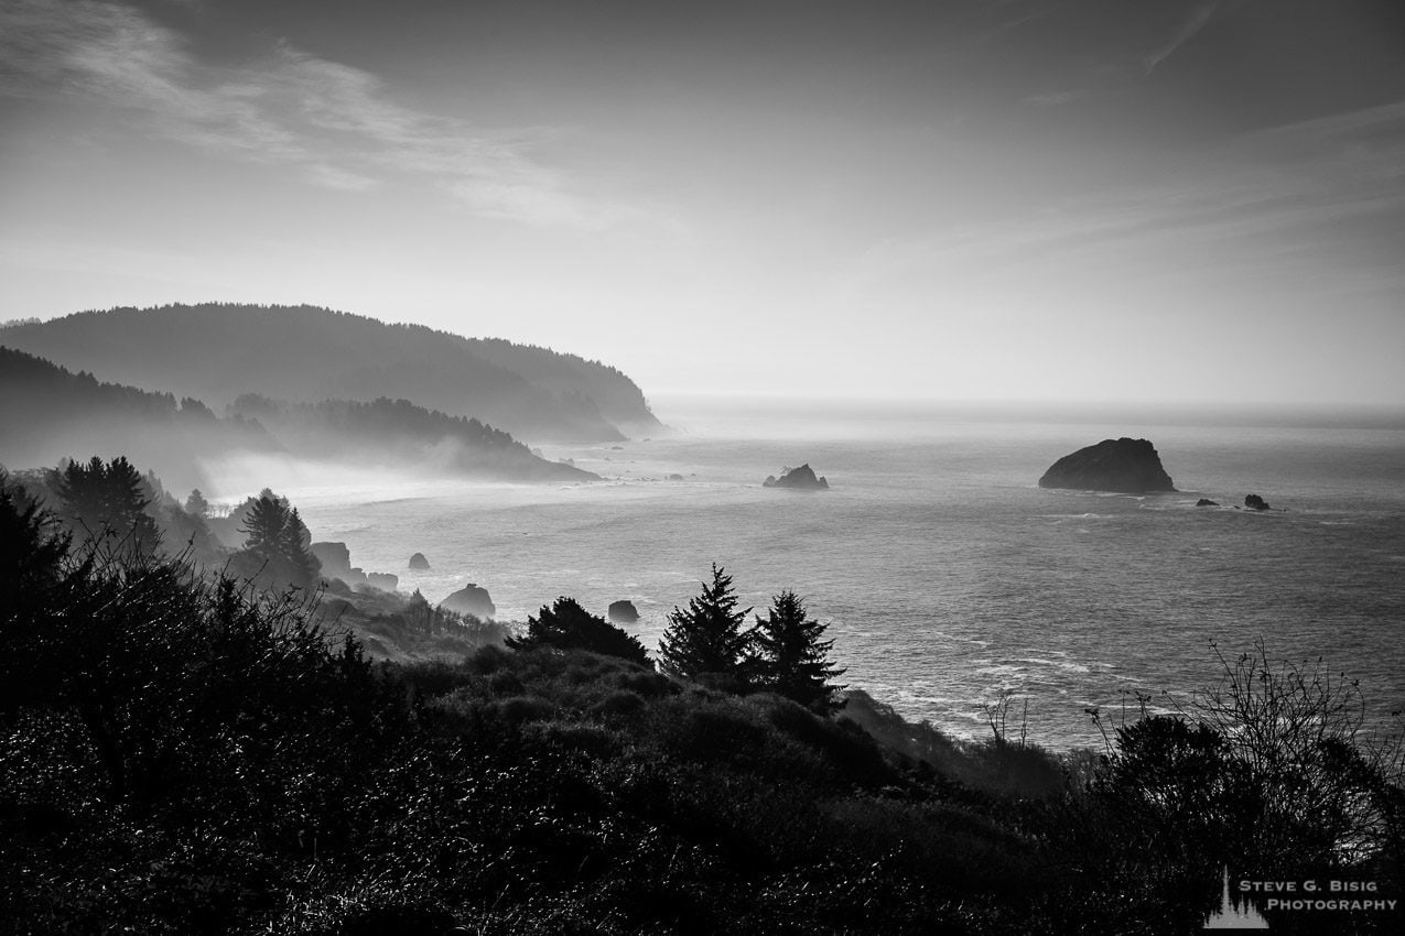
[[176, 401], [103, 383], [34, 355], [0, 347], [0, 463], [53, 466], [63, 457], [125, 455], [173, 490], [204, 484], [200, 459], [285, 449], [259, 422], [219, 418], [194, 399]]

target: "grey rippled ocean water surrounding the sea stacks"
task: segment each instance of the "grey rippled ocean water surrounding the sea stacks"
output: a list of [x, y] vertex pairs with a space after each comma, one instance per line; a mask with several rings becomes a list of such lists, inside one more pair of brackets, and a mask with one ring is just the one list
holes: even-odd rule
[[[1102, 745], [1135, 693], [1218, 681], [1262, 641], [1273, 660], [1360, 682], [1373, 728], [1405, 709], [1405, 429], [1100, 424], [957, 407], [680, 400], [674, 429], [544, 446], [606, 480], [513, 486], [308, 472], [291, 497], [318, 540], [441, 601], [483, 585], [502, 620], [561, 595], [658, 646], [717, 563], [743, 606], [791, 588], [829, 624], [842, 682], [960, 737]], [[1180, 493], [1037, 487], [1058, 457], [1149, 438]], [[809, 463], [825, 493], [763, 488]], [[677, 476], [670, 480], [670, 476]], [[1260, 494], [1269, 512], [1234, 509]], [[1197, 508], [1208, 497], [1218, 508]], [[431, 568], [406, 568], [422, 551]], [[1131, 713], [1128, 711], [1128, 716]]]

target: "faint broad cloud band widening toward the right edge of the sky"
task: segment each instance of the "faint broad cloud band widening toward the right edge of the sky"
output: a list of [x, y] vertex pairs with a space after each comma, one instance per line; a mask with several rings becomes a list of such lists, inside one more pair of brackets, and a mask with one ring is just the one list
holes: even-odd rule
[[[1110, 254], [1170, 262], [1177, 246], [1190, 244], [1218, 246], [1225, 258], [1252, 243], [1290, 262], [1338, 251], [1366, 264], [1373, 254], [1352, 229], [1383, 218], [1405, 232], [1405, 101], [1245, 135], [1132, 191], [881, 241], [858, 260], [846, 288], [948, 272], [1000, 279], [1031, 262], [1093, 262]], [[1375, 272], [1405, 286], [1398, 264], [1378, 260]]]

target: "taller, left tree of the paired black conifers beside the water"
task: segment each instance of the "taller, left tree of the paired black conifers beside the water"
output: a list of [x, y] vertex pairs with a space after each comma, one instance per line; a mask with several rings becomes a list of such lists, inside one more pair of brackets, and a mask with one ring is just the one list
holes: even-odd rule
[[702, 594], [688, 601], [687, 610], [674, 606], [669, 613], [659, 668], [688, 679], [702, 674], [745, 676], [752, 637], [742, 624], [752, 609], [736, 610], [736, 605], [732, 577], [712, 563], [712, 582], [702, 584]]

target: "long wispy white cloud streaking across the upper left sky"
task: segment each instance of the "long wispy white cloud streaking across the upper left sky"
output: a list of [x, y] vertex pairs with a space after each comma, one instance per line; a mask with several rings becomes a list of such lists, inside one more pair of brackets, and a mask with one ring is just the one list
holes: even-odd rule
[[121, 108], [149, 133], [291, 166], [325, 188], [413, 175], [485, 218], [600, 229], [648, 216], [582, 194], [568, 171], [535, 159], [549, 131], [485, 131], [407, 108], [375, 74], [288, 44], [251, 65], [209, 65], [185, 36], [122, 3], [7, 0], [0, 94]]

